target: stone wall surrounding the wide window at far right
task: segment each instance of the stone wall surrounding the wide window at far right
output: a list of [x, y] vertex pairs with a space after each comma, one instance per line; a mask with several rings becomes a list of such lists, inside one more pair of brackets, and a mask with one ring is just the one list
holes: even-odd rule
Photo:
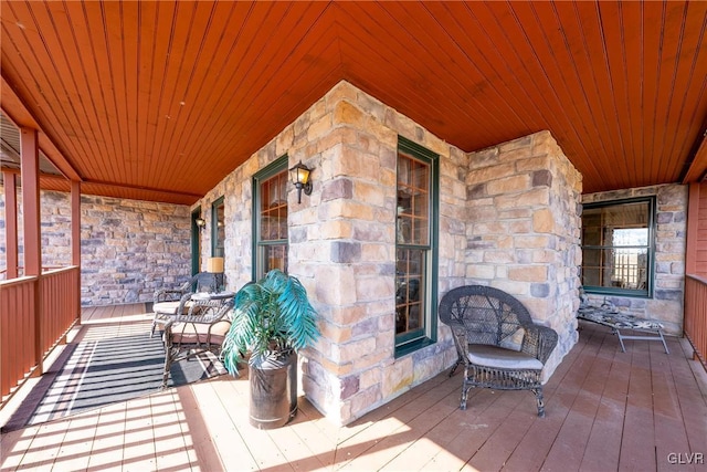
[[[688, 187], [663, 185], [635, 189], [588, 193], [583, 203], [611, 201], [633, 197], [656, 196], [655, 275], [652, 298], [608, 296], [622, 312], [642, 318], [657, 319], [665, 332], [683, 334], [685, 297], [685, 250], [687, 243]], [[589, 295], [591, 303], [601, 304], [603, 295]]]

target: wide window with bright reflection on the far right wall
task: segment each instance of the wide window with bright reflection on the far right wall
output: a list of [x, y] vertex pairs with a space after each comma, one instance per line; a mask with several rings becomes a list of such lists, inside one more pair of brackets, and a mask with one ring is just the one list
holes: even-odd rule
[[582, 210], [582, 286], [588, 293], [650, 297], [655, 197], [587, 203]]

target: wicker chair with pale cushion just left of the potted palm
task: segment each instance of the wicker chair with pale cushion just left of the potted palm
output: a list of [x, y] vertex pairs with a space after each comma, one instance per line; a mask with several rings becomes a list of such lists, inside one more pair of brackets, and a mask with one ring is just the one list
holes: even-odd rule
[[202, 353], [221, 353], [225, 334], [231, 328], [233, 298], [193, 301], [187, 315], [177, 315], [165, 325], [165, 370], [162, 388], [167, 388], [171, 365]]

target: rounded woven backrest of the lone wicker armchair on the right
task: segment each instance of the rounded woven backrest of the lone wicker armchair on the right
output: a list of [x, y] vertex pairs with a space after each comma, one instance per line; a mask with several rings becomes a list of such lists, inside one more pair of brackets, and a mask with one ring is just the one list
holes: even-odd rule
[[463, 325], [473, 344], [498, 346], [519, 328], [532, 325], [528, 310], [513, 295], [484, 285], [465, 285], [447, 292], [440, 302], [440, 321]]

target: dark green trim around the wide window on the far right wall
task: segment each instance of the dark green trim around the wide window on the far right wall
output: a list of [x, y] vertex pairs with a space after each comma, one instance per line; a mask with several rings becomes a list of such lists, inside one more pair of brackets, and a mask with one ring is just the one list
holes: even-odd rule
[[[595, 294], [595, 295], [606, 295], [606, 296], [627, 296], [634, 298], [653, 298], [654, 295], [654, 283], [655, 283], [655, 245], [656, 245], [656, 231], [657, 231], [657, 201], [656, 196], [644, 196], [644, 197], [632, 197], [624, 198], [618, 200], [603, 200], [603, 201], [592, 201], [589, 203], [582, 204], [582, 210], [584, 209], [594, 209], [594, 208], [603, 208], [603, 207], [613, 207], [618, 204], [629, 204], [629, 203], [639, 203], [639, 202], [647, 202], [648, 203], [648, 254], [646, 262], [646, 290], [633, 290], [633, 289], [616, 289], [616, 287], [608, 287], [608, 286], [594, 286], [594, 285], [582, 285], [582, 289], [587, 293]], [[582, 222], [583, 224], [583, 222]], [[584, 241], [582, 241], [581, 249], [584, 251]], [[601, 249], [609, 247], [597, 247], [597, 245], [588, 245], [587, 248]], [[584, 261], [582, 260], [582, 270], [584, 269]]]

